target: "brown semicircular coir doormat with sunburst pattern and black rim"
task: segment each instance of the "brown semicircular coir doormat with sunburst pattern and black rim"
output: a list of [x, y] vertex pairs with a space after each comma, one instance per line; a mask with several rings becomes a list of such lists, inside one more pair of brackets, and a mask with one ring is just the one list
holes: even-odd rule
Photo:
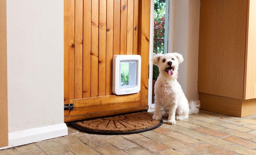
[[162, 120], [152, 120], [152, 115], [148, 112], [136, 112], [72, 122], [71, 125], [87, 133], [132, 134], [152, 130], [163, 124]]

